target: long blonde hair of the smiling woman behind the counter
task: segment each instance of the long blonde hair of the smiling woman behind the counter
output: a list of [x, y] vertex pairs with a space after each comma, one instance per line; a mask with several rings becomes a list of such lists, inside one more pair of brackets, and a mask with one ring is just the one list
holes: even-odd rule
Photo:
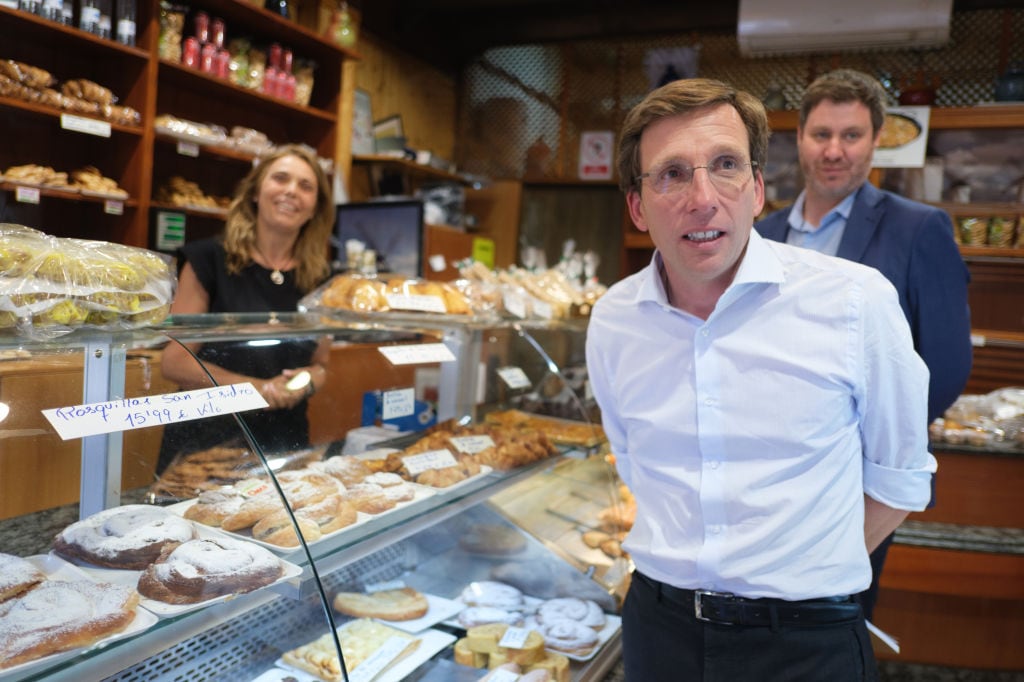
[[224, 226], [224, 250], [227, 252], [227, 271], [238, 274], [252, 262], [252, 250], [256, 245], [256, 198], [267, 169], [278, 159], [296, 157], [308, 165], [316, 176], [316, 207], [312, 217], [302, 225], [295, 242], [293, 256], [298, 263], [295, 268], [295, 284], [300, 291], [312, 291], [330, 274], [328, 262], [328, 242], [334, 228], [334, 200], [327, 173], [321, 167], [315, 154], [300, 144], [284, 144], [272, 153], [260, 158], [259, 162], [239, 182]]

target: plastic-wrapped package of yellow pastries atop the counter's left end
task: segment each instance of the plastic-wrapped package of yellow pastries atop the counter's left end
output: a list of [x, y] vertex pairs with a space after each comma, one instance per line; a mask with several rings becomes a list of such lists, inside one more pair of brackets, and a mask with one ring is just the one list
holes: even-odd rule
[[168, 260], [152, 251], [0, 224], [0, 331], [53, 338], [156, 325], [175, 284]]

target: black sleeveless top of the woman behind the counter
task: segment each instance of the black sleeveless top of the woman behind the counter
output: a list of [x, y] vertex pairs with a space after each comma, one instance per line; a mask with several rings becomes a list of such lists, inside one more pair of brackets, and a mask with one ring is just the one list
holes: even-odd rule
[[[210, 295], [210, 312], [294, 312], [303, 296], [295, 286], [294, 271], [282, 272], [285, 282], [280, 285], [270, 281], [269, 269], [255, 262], [250, 262], [238, 274], [228, 273], [227, 254], [220, 238], [199, 240], [181, 247], [178, 250], [179, 270], [185, 262], [191, 264], [200, 284]], [[309, 365], [317, 342], [315, 338], [292, 337], [272, 345], [207, 341], [197, 355], [231, 372], [269, 379], [282, 370]], [[239, 416], [264, 452], [286, 452], [309, 445], [306, 407], [306, 401], [302, 400], [287, 410], [245, 412]], [[157, 473], [178, 454], [221, 444], [246, 446], [242, 431], [231, 416], [168, 424], [164, 428]]]

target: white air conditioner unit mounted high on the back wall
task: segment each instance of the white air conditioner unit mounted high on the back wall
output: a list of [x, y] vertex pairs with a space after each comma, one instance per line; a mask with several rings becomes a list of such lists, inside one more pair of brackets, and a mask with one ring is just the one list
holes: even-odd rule
[[744, 56], [937, 47], [949, 41], [952, 0], [739, 0]]

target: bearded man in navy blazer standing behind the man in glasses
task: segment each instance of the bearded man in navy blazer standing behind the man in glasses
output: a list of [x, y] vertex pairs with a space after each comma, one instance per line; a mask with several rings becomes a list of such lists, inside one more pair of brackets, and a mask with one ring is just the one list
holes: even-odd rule
[[[804, 93], [797, 148], [805, 189], [757, 223], [765, 238], [854, 260], [882, 271], [899, 294], [913, 345], [931, 373], [929, 422], [959, 396], [971, 374], [971, 275], [941, 209], [867, 180], [886, 114], [886, 92], [866, 74], [829, 72]], [[871, 553], [861, 595], [870, 620], [892, 537]]]

